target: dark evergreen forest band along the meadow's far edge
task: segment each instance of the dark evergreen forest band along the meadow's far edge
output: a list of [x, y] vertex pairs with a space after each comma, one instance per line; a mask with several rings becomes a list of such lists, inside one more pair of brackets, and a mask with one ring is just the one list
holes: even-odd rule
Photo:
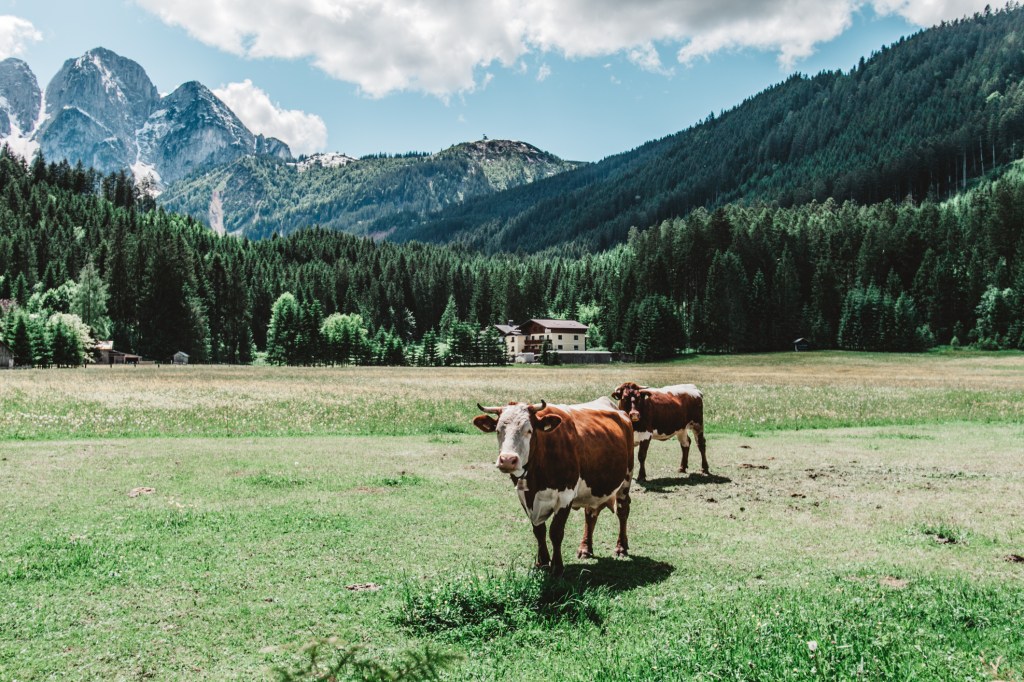
[[592, 345], [641, 359], [801, 336], [1020, 348], [1022, 254], [1019, 165], [941, 204], [699, 209], [570, 258], [326, 229], [219, 237], [152, 209], [124, 175], [0, 153], [2, 336], [37, 365], [81, 361], [90, 337], [154, 359], [461, 363], [494, 350], [484, 324], [542, 315], [591, 324]]

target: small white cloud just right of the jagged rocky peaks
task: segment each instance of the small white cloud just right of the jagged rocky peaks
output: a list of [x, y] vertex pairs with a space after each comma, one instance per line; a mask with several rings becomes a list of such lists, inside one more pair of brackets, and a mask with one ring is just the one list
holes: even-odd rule
[[292, 154], [313, 154], [327, 146], [327, 126], [315, 114], [281, 109], [246, 79], [242, 83], [228, 83], [213, 91], [246, 127], [267, 137], [288, 142]]

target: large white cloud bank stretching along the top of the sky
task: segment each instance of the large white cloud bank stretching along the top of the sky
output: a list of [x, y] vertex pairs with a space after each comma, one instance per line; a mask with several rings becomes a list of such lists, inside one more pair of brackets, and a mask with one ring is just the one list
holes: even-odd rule
[[308, 59], [361, 92], [446, 99], [495, 65], [524, 55], [624, 54], [670, 73], [655, 45], [686, 63], [730, 49], [775, 52], [790, 68], [872, 7], [930, 26], [990, 0], [134, 0], [198, 40], [252, 57]]

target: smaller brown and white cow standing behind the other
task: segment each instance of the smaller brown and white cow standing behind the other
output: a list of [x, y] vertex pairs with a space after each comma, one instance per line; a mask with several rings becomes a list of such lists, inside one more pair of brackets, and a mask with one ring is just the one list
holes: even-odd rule
[[700, 469], [708, 470], [707, 442], [703, 435], [703, 393], [693, 384], [678, 384], [665, 388], [649, 388], [632, 381], [622, 384], [611, 397], [618, 400], [618, 409], [629, 415], [633, 423], [633, 438], [640, 445], [638, 459], [640, 472], [637, 480], [647, 478], [644, 462], [650, 440], [679, 438], [683, 449], [683, 461], [679, 471], [686, 472], [690, 457], [690, 435], [693, 431], [700, 451]]

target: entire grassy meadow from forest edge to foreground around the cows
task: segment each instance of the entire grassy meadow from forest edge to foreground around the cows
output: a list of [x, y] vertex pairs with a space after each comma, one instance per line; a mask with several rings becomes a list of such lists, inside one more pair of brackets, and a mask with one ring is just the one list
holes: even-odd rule
[[[706, 393], [566, 580], [475, 403]], [[0, 373], [0, 680], [273, 679], [335, 636], [463, 679], [1024, 679], [1024, 355]]]

